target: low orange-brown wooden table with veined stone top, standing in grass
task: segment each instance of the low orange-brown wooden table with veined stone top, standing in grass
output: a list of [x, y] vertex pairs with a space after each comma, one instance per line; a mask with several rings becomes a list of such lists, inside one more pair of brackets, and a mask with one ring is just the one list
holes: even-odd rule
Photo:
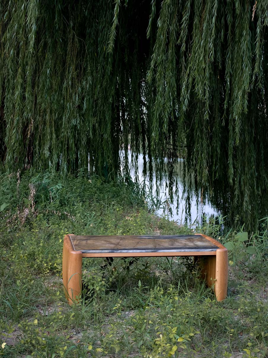
[[[184, 245], [184, 246], [183, 246]], [[216, 299], [227, 296], [228, 251], [204, 234], [178, 236], [75, 236], [63, 243], [63, 286], [71, 305], [82, 287], [83, 257], [195, 256], [203, 279], [213, 288]]]

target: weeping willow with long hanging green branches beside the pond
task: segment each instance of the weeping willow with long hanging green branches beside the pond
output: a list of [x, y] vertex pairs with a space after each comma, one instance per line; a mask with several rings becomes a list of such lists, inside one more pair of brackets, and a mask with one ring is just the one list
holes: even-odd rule
[[[248, 228], [268, 213], [267, 0], [2, 0], [0, 161], [113, 179], [143, 153]], [[122, 154], [120, 154], [122, 153]], [[189, 211], [188, 206], [188, 211]]]

